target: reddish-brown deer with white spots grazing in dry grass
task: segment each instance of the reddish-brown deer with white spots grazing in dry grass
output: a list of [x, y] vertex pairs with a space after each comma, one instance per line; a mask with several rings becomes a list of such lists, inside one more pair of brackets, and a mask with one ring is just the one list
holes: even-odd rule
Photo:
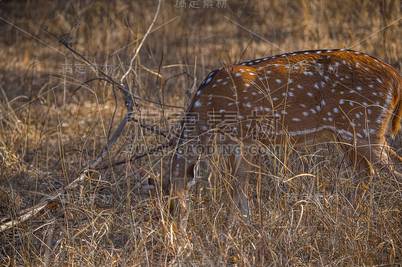
[[172, 207], [186, 208], [199, 155], [228, 155], [232, 196], [247, 214], [253, 147], [336, 141], [367, 185], [374, 170], [402, 181], [387, 137], [398, 130], [402, 80], [390, 65], [347, 49], [300, 51], [212, 71], [195, 91], [164, 173]]

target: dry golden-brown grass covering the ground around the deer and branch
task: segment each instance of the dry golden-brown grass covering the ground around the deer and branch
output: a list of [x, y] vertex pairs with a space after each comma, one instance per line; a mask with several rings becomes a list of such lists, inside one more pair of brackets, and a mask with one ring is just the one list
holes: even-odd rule
[[[169, 77], [186, 71], [199, 84], [222, 61], [305, 49], [352, 48], [401, 72], [402, 21], [395, 22], [402, 17], [400, 2], [385, 2], [228, 0], [224, 9], [197, 10], [177, 9], [175, 1], [162, 1], [154, 29], [177, 18], [145, 41], [136, 62], [137, 95], [185, 106], [185, 91], [193, 80], [187, 75]], [[138, 45], [131, 43], [147, 31], [156, 5], [157, 1], [74, 1], [84, 22], [73, 31], [72, 46], [94, 63], [116, 68], [113, 75], [120, 79], [120, 62], [127, 68]], [[104, 82], [76, 90], [94, 73], [86, 65], [84, 73], [75, 73], [76, 64], [83, 63], [43, 31], [48, 26], [57, 34], [68, 32], [77, 22], [70, 4], [2, 1], [0, 7], [0, 16], [15, 25], [0, 21], [0, 218], [15, 218], [74, 180], [106, 145], [110, 128], [113, 132], [125, 108], [123, 95]], [[62, 73], [66, 63], [73, 67], [72, 73]], [[159, 69], [163, 86], [155, 76]], [[160, 106], [138, 103], [138, 116], [165, 128], [159, 121]], [[164, 112], [174, 115], [182, 109]], [[164, 142], [165, 138], [129, 123], [104, 164]], [[400, 142], [395, 143], [399, 148]], [[224, 242], [217, 236], [224, 231], [225, 214], [233, 209], [226, 195], [229, 177], [225, 168], [217, 172], [211, 167], [224, 166], [222, 158], [209, 162], [214, 170], [209, 182], [190, 189], [190, 208], [181, 219], [163, 213], [161, 202], [142, 192], [129, 166], [89, 172], [85, 183], [60, 196], [57, 205], [0, 233], [0, 264], [402, 263], [400, 185], [393, 177], [376, 177], [354, 211], [347, 201], [352, 175], [336, 151], [328, 145], [261, 153], [248, 195], [251, 225], [238, 216]], [[162, 166], [159, 162], [165, 153], [139, 163], [146, 168], [156, 164], [160, 173], [168, 161], [165, 157]], [[300, 173], [315, 177], [283, 183]], [[151, 220], [152, 212], [160, 210], [160, 220]]]

